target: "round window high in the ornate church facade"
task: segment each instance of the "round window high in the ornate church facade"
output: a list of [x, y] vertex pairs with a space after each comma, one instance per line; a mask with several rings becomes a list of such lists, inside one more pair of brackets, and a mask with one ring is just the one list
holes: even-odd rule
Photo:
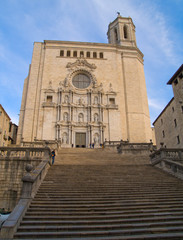
[[72, 84], [76, 88], [87, 88], [90, 85], [90, 78], [83, 73], [75, 75], [72, 79]]

